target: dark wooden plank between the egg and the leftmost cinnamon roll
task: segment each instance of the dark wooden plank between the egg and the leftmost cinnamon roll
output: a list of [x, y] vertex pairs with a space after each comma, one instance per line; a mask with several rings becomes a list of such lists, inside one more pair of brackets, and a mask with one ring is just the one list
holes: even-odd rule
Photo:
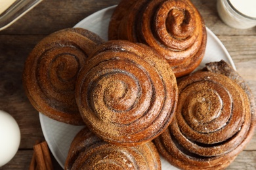
[[32, 107], [22, 86], [24, 61], [42, 36], [0, 35], [0, 109], [9, 112], [20, 126], [20, 148], [32, 148], [43, 141], [38, 112]]

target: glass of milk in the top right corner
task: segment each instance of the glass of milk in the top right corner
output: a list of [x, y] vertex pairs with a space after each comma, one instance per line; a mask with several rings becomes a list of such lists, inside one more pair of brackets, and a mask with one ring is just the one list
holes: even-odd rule
[[256, 25], [256, 0], [217, 0], [217, 10], [230, 27], [247, 29]]

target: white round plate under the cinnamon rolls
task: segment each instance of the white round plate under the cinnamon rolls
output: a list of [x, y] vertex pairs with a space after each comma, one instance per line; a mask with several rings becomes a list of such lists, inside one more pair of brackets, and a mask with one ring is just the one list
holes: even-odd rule
[[[83, 27], [94, 33], [100, 35], [102, 39], [108, 40], [108, 23], [110, 22], [110, 16], [114, 7], [108, 7], [106, 9], [99, 10], [94, 14], [91, 14], [87, 18], [81, 20], [74, 27]], [[223, 59], [227, 63], [230, 63], [235, 68], [232, 58], [228, 54], [226, 48], [222, 42], [213, 34], [213, 32], [207, 28], [207, 46], [205, 51], [205, 57], [198, 68], [202, 68], [205, 63], [211, 61], [220, 61]], [[39, 113], [41, 127], [43, 129], [43, 135], [47, 141], [54, 158], [64, 167], [66, 157], [70, 144], [74, 139], [76, 133], [83, 128], [83, 126], [72, 126], [64, 124], [48, 118], [47, 116]], [[167, 161], [161, 158], [162, 169], [177, 169], [171, 166]]]

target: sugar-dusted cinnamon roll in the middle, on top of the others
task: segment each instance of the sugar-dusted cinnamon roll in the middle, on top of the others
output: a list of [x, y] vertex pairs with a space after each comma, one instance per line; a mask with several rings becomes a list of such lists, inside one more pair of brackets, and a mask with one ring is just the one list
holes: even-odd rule
[[108, 41], [77, 76], [75, 97], [85, 124], [104, 141], [134, 146], [169, 126], [177, 106], [177, 82], [152, 48]]

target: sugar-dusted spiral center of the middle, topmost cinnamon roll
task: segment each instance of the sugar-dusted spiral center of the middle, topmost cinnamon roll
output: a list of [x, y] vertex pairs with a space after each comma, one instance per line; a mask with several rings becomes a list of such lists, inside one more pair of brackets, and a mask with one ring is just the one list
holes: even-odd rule
[[140, 85], [134, 75], [121, 70], [112, 71], [100, 76], [91, 92], [96, 116], [104, 122], [120, 123], [121, 114], [128, 114], [140, 99]]

